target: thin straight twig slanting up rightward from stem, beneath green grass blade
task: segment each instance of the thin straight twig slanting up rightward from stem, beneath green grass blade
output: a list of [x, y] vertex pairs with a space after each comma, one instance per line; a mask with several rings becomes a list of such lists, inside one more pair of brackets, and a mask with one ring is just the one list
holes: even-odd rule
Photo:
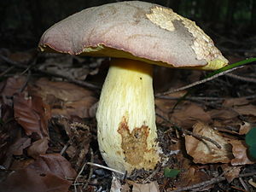
[[212, 80], [212, 79], [216, 79], [216, 78], [218, 78], [218, 77], [220, 77], [220, 76], [222, 76], [222, 75], [224, 75], [224, 74], [226, 74], [226, 73], [230, 73], [230, 72], [232, 72], [232, 71], [234, 71], [234, 70], [236, 70], [236, 69], [238, 69], [238, 68], [241, 68], [241, 67], [243, 67], [243, 66], [230, 68], [230, 69], [228, 69], [228, 70], [226, 70], [226, 71], [224, 71], [224, 72], [215, 74], [215, 75], [213, 75], [213, 76], [210, 77], [210, 78], [202, 79], [202, 80], [200, 80], [200, 81], [196, 81], [196, 82], [194, 82], [194, 83], [192, 83], [192, 84], [188, 84], [188, 85], [186, 85], [186, 86], [177, 88], [177, 89], [175, 89], [175, 90], [167, 90], [166, 92], [158, 93], [158, 94], [156, 94], [155, 96], [166, 96], [166, 95], [168, 95], [168, 94], [175, 93], [175, 92], [178, 92], [178, 91], [180, 91], [180, 90], [187, 90], [187, 89], [189, 89], [190, 87], [194, 87], [195, 85], [206, 83], [207, 81], [210, 81], [210, 80]]

